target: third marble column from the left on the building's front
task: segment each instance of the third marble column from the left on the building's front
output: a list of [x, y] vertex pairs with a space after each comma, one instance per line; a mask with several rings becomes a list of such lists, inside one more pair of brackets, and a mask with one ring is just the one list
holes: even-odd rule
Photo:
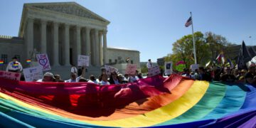
[[54, 22], [53, 23], [53, 66], [58, 66], [60, 63], [58, 62], [58, 57], [59, 57], [59, 51], [58, 51], [58, 43], [59, 43], [59, 38], [58, 38], [58, 28], [59, 28], [59, 23]]

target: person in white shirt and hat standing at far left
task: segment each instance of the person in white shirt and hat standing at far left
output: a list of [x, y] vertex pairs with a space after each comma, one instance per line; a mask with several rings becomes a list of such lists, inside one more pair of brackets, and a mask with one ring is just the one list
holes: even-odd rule
[[14, 56], [13, 60], [7, 65], [6, 72], [21, 73], [22, 65], [18, 62], [18, 58]]

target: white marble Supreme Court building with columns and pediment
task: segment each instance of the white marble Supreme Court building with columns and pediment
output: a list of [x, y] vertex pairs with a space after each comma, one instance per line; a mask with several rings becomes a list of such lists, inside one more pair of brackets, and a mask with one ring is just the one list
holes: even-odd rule
[[53, 71], [60, 74], [77, 65], [78, 55], [90, 56], [92, 74], [120, 58], [139, 66], [139, 51], [107, 48], [109, 23], [75, 2], [24, 4], [18, 37], [0, 36], [0, 59], [6, 64], [16, 55], [26, 68], [26, 59], [46, 53]]

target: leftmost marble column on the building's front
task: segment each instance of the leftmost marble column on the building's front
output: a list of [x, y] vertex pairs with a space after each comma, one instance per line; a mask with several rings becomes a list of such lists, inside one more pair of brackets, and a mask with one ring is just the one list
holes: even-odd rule
[[26, 54], [27, 58], [31, 58], [33, 53], [33, 18], [28, 18], [26, 26]]

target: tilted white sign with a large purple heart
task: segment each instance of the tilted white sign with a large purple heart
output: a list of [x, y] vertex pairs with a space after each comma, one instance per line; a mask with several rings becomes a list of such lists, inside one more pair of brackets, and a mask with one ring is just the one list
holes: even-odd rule
[[36, 54], [36, 59], [38, 60], [38, 64], [41, 66], [43, 71], [50, 70], [50, 62], [46, 54]]

